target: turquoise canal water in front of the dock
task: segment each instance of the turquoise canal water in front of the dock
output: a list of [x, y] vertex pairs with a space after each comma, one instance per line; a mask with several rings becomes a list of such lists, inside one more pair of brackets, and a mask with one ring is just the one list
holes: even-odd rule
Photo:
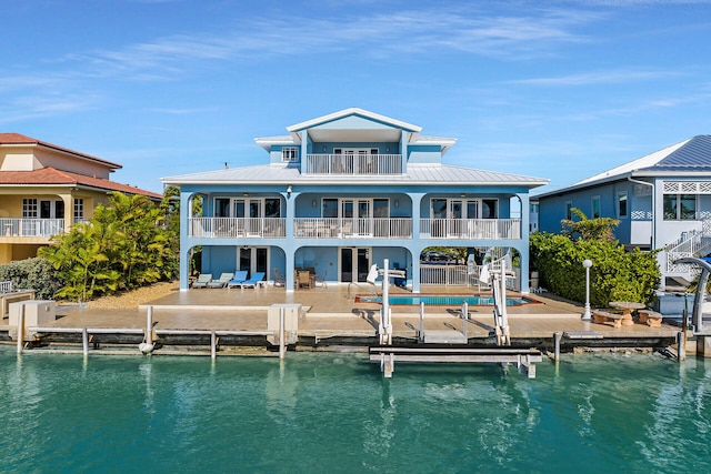
[[497, 365], [0, 347], [0, 471], [711, 472], [711, 361]]

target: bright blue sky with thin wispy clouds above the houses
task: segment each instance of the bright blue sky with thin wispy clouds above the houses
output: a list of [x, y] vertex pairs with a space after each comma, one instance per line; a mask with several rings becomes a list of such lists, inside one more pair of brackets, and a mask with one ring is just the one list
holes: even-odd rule
[[349, 107], [549, 191], [711, 133], [711, 1], [0, 0], [0, 131], [114, 181], [266, 163]]

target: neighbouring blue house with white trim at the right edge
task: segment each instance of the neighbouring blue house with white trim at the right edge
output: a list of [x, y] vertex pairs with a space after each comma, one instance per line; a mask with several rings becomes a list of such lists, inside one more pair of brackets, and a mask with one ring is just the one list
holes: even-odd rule
[[614, 218], [627, 248], [661, 250], [664, 283], [687, 283], [698, 270], [674, 262], [711, 252], [711, 135], [697, 135], [570, 186], [532, 198], [539, 229], [560, 232], [571, 209]]

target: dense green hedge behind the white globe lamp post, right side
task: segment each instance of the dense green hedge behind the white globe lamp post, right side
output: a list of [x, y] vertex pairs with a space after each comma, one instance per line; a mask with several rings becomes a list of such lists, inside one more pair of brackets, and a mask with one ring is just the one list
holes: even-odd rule
[[567, 235], [533, 233], [530, 236], [531, 269], [539, 272], [541, 285], [565, 299], [585, 301], [585, 271], [590, 269], [590, 303], [608, 306], [610, 301], [650, 304], [661, 274], [655, 252], [639, 249], [627, 252], [618, 242], [577, 240]]

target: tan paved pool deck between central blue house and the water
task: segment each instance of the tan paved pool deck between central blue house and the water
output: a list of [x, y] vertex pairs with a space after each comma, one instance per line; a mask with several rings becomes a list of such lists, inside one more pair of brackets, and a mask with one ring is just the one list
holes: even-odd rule
[[[391, 294], [405, 293], [392, 288]], [[421, 294], [474, 294], [473, 289], [462, 286], [423, 286]], [[299, 341], [312, 347], [319, 345], [367, 346], [377, 339], [380, 304], [358, 303], [356, 295], [372, 295], [372, 286], [329, 284], [287, 293], [283, 288], [258, 289], [200, 289], [178, 291], [168, 296], [148, 302], [132, 310], [106, 310], [58, 306], [58, 319], [42, 326], [53, 327], [102, 327], [143, 329], [147, 324], [147, 307], [151, 305], [154, 330], [182, 331], [267, 331], [267, 313], [272, 304], [301, 304], [306, 310], [299, 319]], [[520, 296], [508, 293], [507, 296]], [[549, 346], [553, 333], [563, 334], [567, 345], [604, 346], [654, 346], [669, 345], [680, 329], [662, 324], [650, 327], [635, 323], [613, 327], [581, 321], [583, 307], [560, 301], [555, 296], [531, 294], [539, 301], [521, 306], [508, 306], [511, 339], [514, 343]], [[391, 306], [393, 340], [407, 343], [417, 340], [420, 325], [419, 306]], [[469, 306], [470, 320], [467, 335], [470, 344], [492, 344], [492, 306]], [[8, 319], [0, 323], [0, 335], [6, 341], [11, 329]], [[427, 306], [424, 331], [462, 332], [460, 307]], [[603, 342], [601, 342], [603, 341]]]

